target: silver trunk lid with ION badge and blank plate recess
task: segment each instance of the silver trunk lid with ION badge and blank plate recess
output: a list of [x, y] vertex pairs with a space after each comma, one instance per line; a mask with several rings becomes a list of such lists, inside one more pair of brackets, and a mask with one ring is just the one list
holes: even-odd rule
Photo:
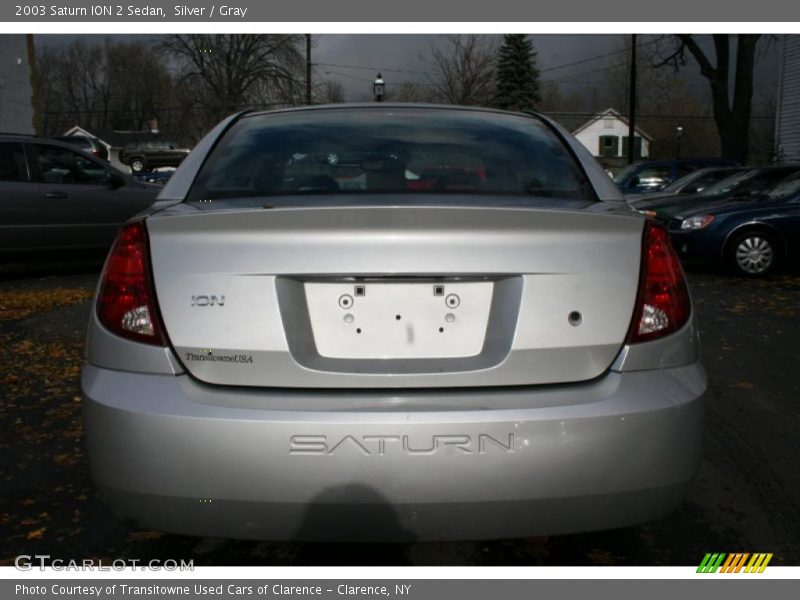
[[168, 337], [204, 382], [467, 387], [603, 373], [630, 326], [642, 220], [591, 209], [184, 205], [148, 229]]

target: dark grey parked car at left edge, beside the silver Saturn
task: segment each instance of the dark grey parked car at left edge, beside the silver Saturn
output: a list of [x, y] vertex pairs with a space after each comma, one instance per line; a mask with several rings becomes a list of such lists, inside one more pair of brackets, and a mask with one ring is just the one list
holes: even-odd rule
[[0, 254], [108, 249], [159, 190], [69, 144], [0, 135]]

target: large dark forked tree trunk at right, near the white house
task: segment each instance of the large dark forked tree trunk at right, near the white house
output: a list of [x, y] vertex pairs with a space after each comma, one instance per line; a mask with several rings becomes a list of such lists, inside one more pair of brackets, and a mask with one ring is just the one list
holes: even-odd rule
[[[700, 65], [700, 73], [711, 88], [714, 121], [722, 154], [746, 162], [749, 154], [750, 116], [753, 106], [753, 70], [756, 46], [761, 34], [714, 34], [714, 57], [700, 46], [694, 35], [675, 35], [672, 51], [661, 65], [676, 70], [687, 64], [687, 51]], [[736, 57], [731, 57], [731, 40], [736, 40]], [[733, 64], [732, 64], [733, 63]], [[731, 67], [734, 75], [731, 81]]]

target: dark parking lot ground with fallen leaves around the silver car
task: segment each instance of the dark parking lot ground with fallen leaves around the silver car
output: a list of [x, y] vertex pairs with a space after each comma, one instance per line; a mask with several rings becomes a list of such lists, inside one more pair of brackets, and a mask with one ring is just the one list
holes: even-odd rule
[[493, 542], [241, 542], [136, 531], [95, 497], [79, 375], [102, 260], [0, 268], [0, 564], [53, 558], [196, 565], [696, 565], [705, 552], [773, 552], [800, 565], [800, 274], [689, 272], [709, 375], [704, 460], [682, 508], [623, 530]]

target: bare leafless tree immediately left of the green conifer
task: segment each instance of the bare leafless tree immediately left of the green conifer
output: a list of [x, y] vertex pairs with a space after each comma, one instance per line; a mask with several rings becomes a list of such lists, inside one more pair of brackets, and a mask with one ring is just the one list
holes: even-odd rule
[[447, 104], [491, 104], [496, 44], [477, 35], [455, 35], [431, 49], [432, 100]]

